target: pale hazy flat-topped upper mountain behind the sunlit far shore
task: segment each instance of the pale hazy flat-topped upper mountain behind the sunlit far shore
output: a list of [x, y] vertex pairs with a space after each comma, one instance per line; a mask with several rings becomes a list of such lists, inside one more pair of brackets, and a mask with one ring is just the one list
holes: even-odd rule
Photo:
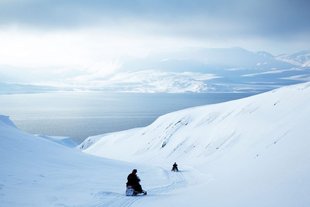
[[128, 60], [122, 66], [128, 69], [161, 69], [173, 72], [206, 72], [218, 69], [288, 68], [292, 64], [276, 59], [267, 52], [251, 52], [243, 48], [183, 48], [178, 51], [150, 54]]

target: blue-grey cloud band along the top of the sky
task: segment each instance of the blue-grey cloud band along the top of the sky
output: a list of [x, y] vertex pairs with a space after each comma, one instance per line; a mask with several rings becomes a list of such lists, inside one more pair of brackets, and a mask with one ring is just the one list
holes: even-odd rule
[[309, 35], [309, 9], [307, 0], [13, 0], [1, 1], [0, 23], [44, 29], [125, 25], [196, 38], [292, 38]]

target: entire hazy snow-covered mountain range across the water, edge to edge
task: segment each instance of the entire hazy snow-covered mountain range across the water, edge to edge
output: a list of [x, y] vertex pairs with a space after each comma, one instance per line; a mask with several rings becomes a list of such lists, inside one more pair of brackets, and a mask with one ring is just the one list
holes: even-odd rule
[[[36, 73], [15, 78], [17, 70], [0, 67], [2, 93], [54, 90], [92, 90], [138, 93], [262, 92], [284, 85], [310, 81], [310, 50], [274, 56], [242, 48], [184, 48], [175, 52], [126, 57], [109, 76], [78, 71], [51, 75]], [[6, 78], [7, 77], [7, 78]], [[23, 81], [21, 77], [27, 77]], [[40, 78], [42, 77], [42, 78]], [[76, 83], [76, 80], [79, 80]], [[61, 85], [62, 87], [58, 87]], [[5, 87], [3, 87], [5, 86]], [[64, 87], [65, 86], [65, 87]], [[18, 90], [17, 90], [18, 88]]]

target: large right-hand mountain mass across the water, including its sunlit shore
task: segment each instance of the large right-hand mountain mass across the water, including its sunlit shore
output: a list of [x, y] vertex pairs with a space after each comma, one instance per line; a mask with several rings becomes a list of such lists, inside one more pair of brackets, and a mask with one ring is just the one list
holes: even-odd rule
[[96, 79], [96, 83], [99, 90], [121, 92], [252, 93], [309, 80], [309, 67], [267, 52], [184, 48], [125, 58], [115, 74], [108, 79]]

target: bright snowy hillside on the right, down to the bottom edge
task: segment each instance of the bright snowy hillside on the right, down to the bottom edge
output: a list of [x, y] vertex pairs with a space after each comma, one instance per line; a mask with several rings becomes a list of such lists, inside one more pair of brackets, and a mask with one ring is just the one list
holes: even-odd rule
[[80, 148], [166, 170], [179, 164], [175, 190], [162, 187], [161, 196], [132, 206], [306, 207], [309, 123], [305, 83], [170, 113], [145, 128], [90, 137]]

